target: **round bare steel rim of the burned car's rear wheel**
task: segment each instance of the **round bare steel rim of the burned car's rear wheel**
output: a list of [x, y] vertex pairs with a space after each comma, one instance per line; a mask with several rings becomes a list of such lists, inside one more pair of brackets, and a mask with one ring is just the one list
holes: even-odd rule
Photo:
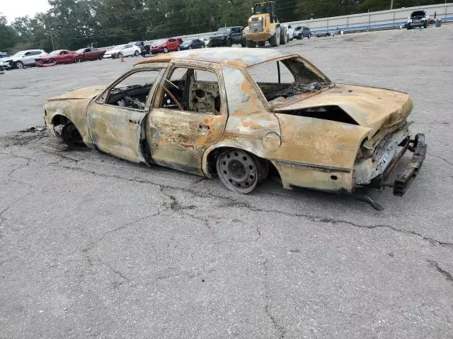
[[248, 193], [258, 183], [258, 168], [253, 158], [241, 150], [230, 150], [219, 158], [219, 177], [234, 191]]

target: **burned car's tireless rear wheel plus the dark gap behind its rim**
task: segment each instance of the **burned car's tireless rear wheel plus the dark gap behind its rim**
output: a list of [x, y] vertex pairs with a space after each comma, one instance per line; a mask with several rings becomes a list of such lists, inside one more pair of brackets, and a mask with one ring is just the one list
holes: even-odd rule
[[217, 156], [217, 175], [230, 191], [248, 194], [265, 180], [264, 161], [245, 150], [229, 148]]

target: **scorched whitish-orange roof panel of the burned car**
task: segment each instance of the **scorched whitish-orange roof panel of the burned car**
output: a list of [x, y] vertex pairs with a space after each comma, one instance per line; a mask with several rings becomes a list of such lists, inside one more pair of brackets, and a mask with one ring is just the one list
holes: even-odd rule
[[273, 59], [285, 57], [299, 57], [299, 54], [282, 52], [276, 49], [248, 49], [248, 48], [229, 48], [224, 49], [210, 48], [194, 51], [180, 51], [168, 54], [159, 54], [135, 65], [149, 64], [154, 62], [168, 62], [172, 60], [186, 61], [207, 61], [215, 64], [231, 64], [235, 66], [250, 67]]

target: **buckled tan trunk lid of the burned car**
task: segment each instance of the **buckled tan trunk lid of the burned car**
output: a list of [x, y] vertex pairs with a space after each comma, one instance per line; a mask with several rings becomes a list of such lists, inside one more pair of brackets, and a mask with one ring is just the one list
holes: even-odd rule
[[407, 93], [386, 88], [336, 84], [319, 94], [279, 107], [275, 112], [333, 105], [343, 109], [360, 126], [371, 129], [371, 136], [381, 128], [389, 128], [406, 120], [413, 109], [413, 102]]

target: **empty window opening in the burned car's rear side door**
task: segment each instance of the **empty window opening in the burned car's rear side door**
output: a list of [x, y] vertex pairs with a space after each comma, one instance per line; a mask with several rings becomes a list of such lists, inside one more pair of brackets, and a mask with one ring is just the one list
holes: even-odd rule
[[212, 71], [176, 68], [164, 83], [159, 107], [202, 114], [220, 114], [219, 79]]

